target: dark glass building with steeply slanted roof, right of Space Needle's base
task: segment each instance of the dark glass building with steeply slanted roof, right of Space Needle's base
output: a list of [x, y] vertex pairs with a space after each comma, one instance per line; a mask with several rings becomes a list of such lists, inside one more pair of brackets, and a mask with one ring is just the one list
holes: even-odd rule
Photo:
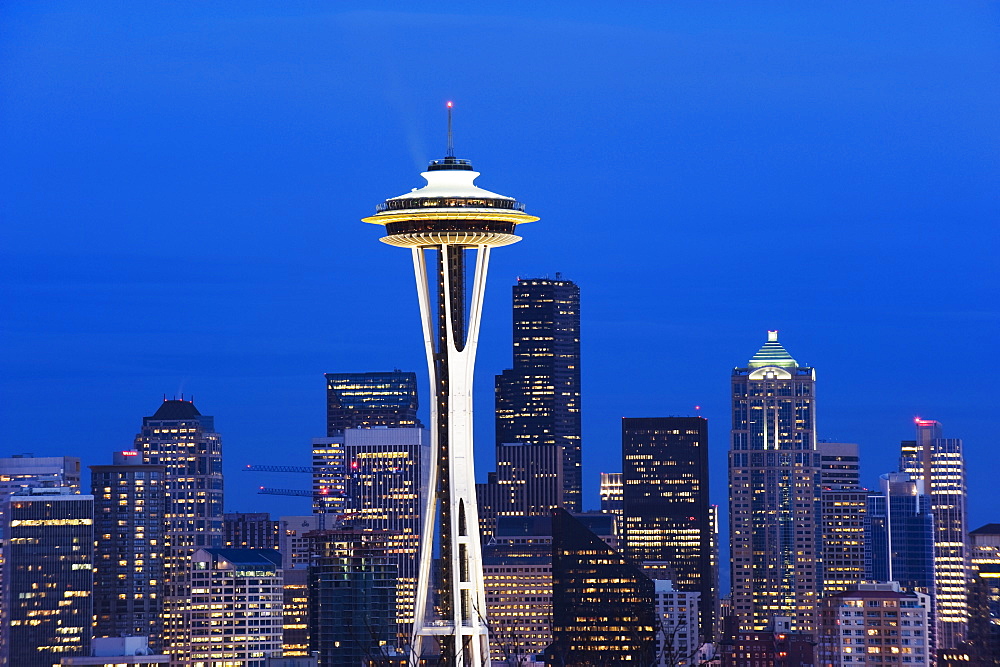
[[655, 584], [568, 512], [552, 516], [549, 665], [654, 663]]

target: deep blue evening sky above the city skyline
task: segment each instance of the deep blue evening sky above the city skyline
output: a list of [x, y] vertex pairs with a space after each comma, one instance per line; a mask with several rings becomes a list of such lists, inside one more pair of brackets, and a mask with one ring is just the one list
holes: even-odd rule
[[[868, 483], [915, 416], [996, 483], [995, 2], [17, 2], [0, 12], [0, 453], [110, 462], [168, 396], [227, 506], [305, 512], [323, 372], [424, 373], [409, 257], [359, 219], [444, 150], [538, 223], [494, 254], [479, 474], [510, 286], [582, 292], [584, 474], [623, 416], [708, 417], [769, 328]], [[423, 398], [426, 404], [426, 393]], [[723, 512], [725, 514], [725, 512]], [[725, 542], [725, 540], [723, 540]]]

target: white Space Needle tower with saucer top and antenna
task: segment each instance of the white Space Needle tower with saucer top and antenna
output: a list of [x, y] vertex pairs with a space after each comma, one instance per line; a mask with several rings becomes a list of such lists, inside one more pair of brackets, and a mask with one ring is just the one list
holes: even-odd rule
[[437, 643], [442, 664], [480, 667], [490, 652], [473, 470], [473, 367], [490, 251], [520, 241], [516, 226], [538, 218], [517, 200], [474, 185], [479, 173], [455, 157], [451, 127], [448, 102], [448, 150], [420, 174], [427, 185], [385, 200], [363, 222], [382, 225], [383, 243], [410, 248], [413, 255], [434, 395], [413, 655], [429, 656]]

